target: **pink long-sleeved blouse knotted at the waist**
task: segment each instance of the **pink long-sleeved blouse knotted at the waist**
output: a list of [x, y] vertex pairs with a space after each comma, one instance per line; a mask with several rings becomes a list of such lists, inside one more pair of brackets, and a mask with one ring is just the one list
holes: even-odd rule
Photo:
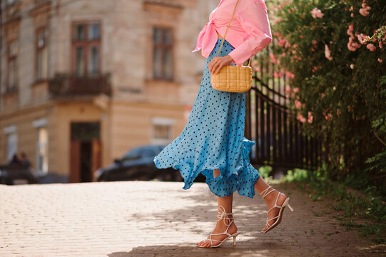
[[[218, 40], [217, 33], [221, 36], [225, 34], [236, 1], [220, 1], [220, 4], [210, 13], [209, 22], [198, 34], [197, 44], [193, 52], [202, 49], [201, 54], [208, 58]], [[229, 55], [238, 65], [243, 64], [244, 61], [270, 44], [272, 34], [267, 6], [265, 6], [263, 0], [238, 1], [225, 40], [235, 47]]]

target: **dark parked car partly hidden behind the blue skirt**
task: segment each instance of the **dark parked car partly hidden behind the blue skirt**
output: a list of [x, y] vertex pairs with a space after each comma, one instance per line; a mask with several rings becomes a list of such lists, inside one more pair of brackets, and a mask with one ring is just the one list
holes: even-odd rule
[[[99, 168], [94, 173], [94, 181], [133, 181], [153, 180], [159, 181], [183, 181], [180, 171], [174, 168], [159, 169], [153, 159], [165, 146], [145, 145], [133, 148], [116, 159], [114, 163]], [[205, 176], [196, 181], [205, 181]]]

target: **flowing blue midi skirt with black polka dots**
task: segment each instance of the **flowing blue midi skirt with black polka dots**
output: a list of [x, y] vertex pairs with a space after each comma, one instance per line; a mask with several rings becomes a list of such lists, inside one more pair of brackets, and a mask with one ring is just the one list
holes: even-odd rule
[[[185, 181], [183, 189], [191, 188], [202, 173], [216, 196], [230, 196], [237, 190], [241, 196], [253, 198], [260, 175], [249, 160], [250, 148], [255, 143], [244, 137], [245, 93], [217, 91], [210, 82], [208, 64], [217, 56], [221, 41], [217, 41], [206, 59], [200, 89], [185, 128], [154, 158], [154, 163], [158, 168], [179, 169]], [[225, 41], [219, 56], [226, 56], [233, 49]], [[213, 178], [213, 170], [217, 168], [220, 176]]]

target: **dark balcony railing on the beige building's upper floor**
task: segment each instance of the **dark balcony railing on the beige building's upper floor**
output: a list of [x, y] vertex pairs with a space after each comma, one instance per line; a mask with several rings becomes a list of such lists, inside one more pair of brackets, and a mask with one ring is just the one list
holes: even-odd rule
[[110, 74], [98, 76], [75, 76], [56, 74], [49, 81], [51, 99], [72, 98], [79, 96], [111, 96]]

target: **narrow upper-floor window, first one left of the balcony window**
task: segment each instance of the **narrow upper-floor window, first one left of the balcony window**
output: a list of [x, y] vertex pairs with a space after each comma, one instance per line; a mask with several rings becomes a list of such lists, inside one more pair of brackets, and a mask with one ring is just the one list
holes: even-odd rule
[[36, 79], [46, 79], [48, 75], [47, 30], [36, 31]]

